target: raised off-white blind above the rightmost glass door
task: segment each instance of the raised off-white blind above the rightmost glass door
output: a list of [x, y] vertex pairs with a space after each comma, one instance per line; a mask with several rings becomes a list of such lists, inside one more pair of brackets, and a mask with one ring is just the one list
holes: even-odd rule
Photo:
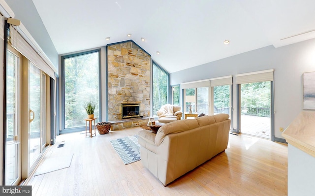
[[246, 84], [252, 82], [263, 82], [274, 80], [274, 69], [243, 73], [236, 75], [236, 84]]

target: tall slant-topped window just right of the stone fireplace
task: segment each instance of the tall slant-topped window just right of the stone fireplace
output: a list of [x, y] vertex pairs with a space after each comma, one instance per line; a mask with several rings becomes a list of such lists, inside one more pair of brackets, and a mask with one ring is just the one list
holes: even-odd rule
[[157, 111], [162, 105], [168, 103], [169, 98], [169, 73], [162, 69], [158, 64], [153, 62], [153, 114], [156, 116]]

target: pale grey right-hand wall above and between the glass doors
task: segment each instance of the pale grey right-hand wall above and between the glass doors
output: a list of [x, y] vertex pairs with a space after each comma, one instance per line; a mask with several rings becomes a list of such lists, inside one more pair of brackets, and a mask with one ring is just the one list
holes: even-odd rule
[[[207, 55], [207, 54], [205, 54]], [[211, 55], [211, 54], [209, 54]], [[198, 57], [195, 57], [198, 58]], [[274, 48], [267, 46], [170, 74], [170, 84], [275, 69], [275, 137], [284, 138], [284, 129], [303, 110], [303, 72], [315, 71], [315, 39]], [[236, 129], [236, 85], [233, 84]]]

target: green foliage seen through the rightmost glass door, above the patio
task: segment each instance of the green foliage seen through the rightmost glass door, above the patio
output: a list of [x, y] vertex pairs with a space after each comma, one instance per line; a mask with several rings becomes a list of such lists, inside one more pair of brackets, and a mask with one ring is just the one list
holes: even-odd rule
[[242, 84], [241, 96], [242, 114], [270, 117], [270, 81]]

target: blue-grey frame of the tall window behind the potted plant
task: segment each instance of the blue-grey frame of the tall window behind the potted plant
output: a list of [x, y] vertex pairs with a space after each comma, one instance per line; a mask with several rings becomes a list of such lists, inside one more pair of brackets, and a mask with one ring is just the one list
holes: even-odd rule
[[[95, 53], [98, 52], [98, 109], [99, 109], [99, 114], [96, 118], [98, 119], [102, 119], [101, 118], [101, 49], [95, 49], [95, 50], [89, 50], [89, 51], [85, 51], [85, 52], [78, 52], [78, 53], [74, 53], [74, 54], [69, 54], [69, 55], [64, 55], [61, 57], [61, 131], [60, 134], [63, 133], [69, 133], [69, 132], [76, 132], [76, 131], [84, 131], [85, 126], [81, 126], [81, 127], [75, 127], [75, 128], [65, 128], [65, 102], [64, 102], [64, 60], [68, 59], [68, 58], [73, 58], [73, 57], [77, 57], [77, 56], [82, 56], [82, 55], [87, 55], [87, 54], [91, 54], [91, 53]], [[82, 119], [84, 120], [84, 119]]]

